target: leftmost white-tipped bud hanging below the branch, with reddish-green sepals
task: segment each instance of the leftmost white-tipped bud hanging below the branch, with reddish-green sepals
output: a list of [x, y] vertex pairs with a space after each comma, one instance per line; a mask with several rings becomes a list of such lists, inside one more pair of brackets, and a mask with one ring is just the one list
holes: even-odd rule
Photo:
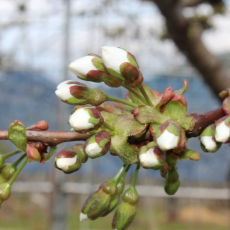
[[76, 172], [81, 167], [76, 151], [71, 148], [62, 149], [55, 157], [54, 167], [66, 174]]

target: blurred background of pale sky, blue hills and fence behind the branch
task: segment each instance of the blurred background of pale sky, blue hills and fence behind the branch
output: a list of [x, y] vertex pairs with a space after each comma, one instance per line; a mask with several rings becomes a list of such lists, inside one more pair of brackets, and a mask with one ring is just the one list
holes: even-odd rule
[[[226, 70], [229, 83], [230, 1], [184, 2], [188, 5], [180, 9], [182, 15], [199, 25], [196, 28], [202, 26], [200, 39]], [[56, 98], [56, 86], [76, 79], [68, 70], [71, 61], [88, 53], [100, 55], [104, 45], [134, 54], [145, 83], [154, 90], [163, 92], [168, 86], [177, 90], [188, 79], [188, 112], [220, 107], [213, 87], [186, 59], [187, 51], [182, 54], [170, 39], [167, 20], [151, 0], [0, 0], [0, 130], [8, 129], [15, 119], [25, 126], [46, 120], [50, 130], [69, 130], [67, 120], [73, 106]], [[87, 85], [116, 97], [126, 94], [122, 88]], [[130, 229], [229, 229], [229, 147], [205, 153], [195, 138], [188, 147], [200, 152], [201, 159], [179, 162], [181, 188], [173, 197], [165, 194], [159, 172], [141, 170], [138, 213]], [[8, 141], [1, 141], [1, 153], [11, 150]], [[54, 169], [52, 161], [26, 166], [10, 199], [2, 205], [0, 230], [110, 229], [113, 214], [88, 222], [79, 222], [79, 214], [88, 195], [113, 177], [121, 160], [107, 154], [89, 160], [71, 175]], [[130, 180], [131, 173], [127, 183]]]

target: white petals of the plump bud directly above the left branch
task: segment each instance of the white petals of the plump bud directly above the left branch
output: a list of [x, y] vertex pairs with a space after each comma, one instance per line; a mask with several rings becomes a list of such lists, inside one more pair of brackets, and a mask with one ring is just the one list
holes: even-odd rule
[[84, 108], [77, 109], [69, 118], [69, 124], [75, 130], [90, 129], [94, 125], [89, 123], [90, 114]]

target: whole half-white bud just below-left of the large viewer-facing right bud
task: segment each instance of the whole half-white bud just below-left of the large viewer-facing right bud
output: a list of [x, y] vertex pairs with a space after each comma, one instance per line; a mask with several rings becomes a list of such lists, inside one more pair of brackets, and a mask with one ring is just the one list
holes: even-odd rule
[[165, 163], [165, 153], [162, 152], [158, 147], [147, 147], [143, 146], [139, 152], [139, 159], [141, 166], [147, 169], [160, 169]]

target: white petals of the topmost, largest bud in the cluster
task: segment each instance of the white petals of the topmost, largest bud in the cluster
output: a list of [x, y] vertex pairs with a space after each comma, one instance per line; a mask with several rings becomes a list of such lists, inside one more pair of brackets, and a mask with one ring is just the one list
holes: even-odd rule
[[120, 73], [120, 65], [124, 62], [129, 62], [127, 58], [127, 52], [123, 49], [103, 46], [102, 49], [102, 59], [106, 68], [112, 68]]

